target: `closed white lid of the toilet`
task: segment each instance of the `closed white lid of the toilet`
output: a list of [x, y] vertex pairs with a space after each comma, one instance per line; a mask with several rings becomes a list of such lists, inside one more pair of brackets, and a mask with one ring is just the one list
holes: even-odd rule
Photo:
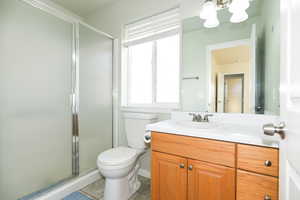
[[116, 147], [104, 151], [98, 156], [99, 164], [121, 165], [135, 160], [137, 151], [128, 147]]

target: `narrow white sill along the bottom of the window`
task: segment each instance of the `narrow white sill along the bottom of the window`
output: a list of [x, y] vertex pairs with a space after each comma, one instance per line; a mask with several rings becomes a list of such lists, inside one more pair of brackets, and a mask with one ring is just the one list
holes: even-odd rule
[[174, 111], [179, 111], [179, 107], [167, 108], [167, 107], [135, 107], [135, 106], [122, 106], [120, 109], [122, 112], [137, 112], [137, 113], [161, 113], [170, 114]]

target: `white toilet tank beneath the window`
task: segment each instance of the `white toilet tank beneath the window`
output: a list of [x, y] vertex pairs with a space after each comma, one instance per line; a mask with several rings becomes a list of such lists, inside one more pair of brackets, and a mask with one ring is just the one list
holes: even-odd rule
[[156, 121], [157, 116], [154, 114], [125, 113], [124, 125], [128, 146], [134, 149], [146, 148], [144, 142], [145, 127]]

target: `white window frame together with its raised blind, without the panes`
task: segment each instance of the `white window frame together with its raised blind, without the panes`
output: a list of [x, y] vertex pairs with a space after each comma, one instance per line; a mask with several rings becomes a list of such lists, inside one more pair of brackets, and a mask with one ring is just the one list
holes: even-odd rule
[[[173, 7], [164, 12], [140, 19], [124, 25], [122, 29], [121, 46], [121, 110], [149, 111], [162, 113], [181, 108], [181, 72], [182, 72], [182, 22], [180, 20], [180, 6]], [[143, 28], [146, 28], [144, 30]], [[153, 28], [153, 29], [152, 29]], [[179, 36], [179, 82], [178, 82], [178, 103], [158, 103], [157, 95], [157, 40]], [[152, 46], [152, 102], [149, 104], [135, 104], [129, 101], [129, 50], [128, 47], [153, 42]]]

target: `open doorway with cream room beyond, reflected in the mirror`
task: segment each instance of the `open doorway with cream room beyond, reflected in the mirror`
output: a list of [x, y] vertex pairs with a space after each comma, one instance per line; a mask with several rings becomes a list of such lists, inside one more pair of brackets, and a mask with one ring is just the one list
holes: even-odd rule
[[[228, 46], [224, 48], [224, 46]], [[222, 43], [209, 48], [211, 69], [210, 111], [250, 113], [254, 109], [255, 84], [248, 40]], [[252, 111], [254, 112], [254, 110]]]

